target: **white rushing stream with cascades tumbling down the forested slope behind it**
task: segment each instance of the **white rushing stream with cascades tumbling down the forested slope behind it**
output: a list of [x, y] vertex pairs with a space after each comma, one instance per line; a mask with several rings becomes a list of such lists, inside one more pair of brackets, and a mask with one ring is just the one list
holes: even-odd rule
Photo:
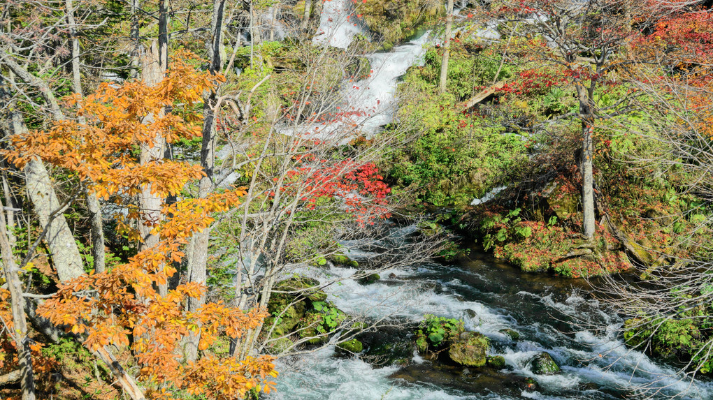
[[[325, 2], [315, 43], [346, 48], [356, 33], [363, 32], [346, 18], [349, 3]], [[493, 36], [492, 27], [482, 36]], [[423, 45], [429, 40], [426, 33], [389, 53], [369, 56], [374, 73], [354, 84], [359, 95], [349, 90], [351, 83], [345, 83], [345, 97], [354, 98], [352, 106], [378, 111], [359, 121], [366, 133], [378, 132], [391, 121], [398, 78], [411, 65], [422, 63]], [[415, 230], [415, 226], [393, 228], [396, 240], [387, 245], [398, 248]], [[368, 242], [342, 244], [350, 249], [347, 255], [364, 260], [374, 256]], [[324, 282], [347, 278], [356, 270], [331, 266], [297, 272]], [[334, 357], [332, 343], [317, 352], [279, 359], [277, 392], [267, 398], [622, 399], [635, 397], [633, 387], [655, 382], [657, 387], [667, 386], [665, 394], [686, 391], [682, 399], [713, 399], [710, 382], [678, 381], [674, 367], [627, 349], [618, 336], [623, 320], [597, 302], [590, 290], [580, 280], [526, 274], [477, 251], [456, 265], [419, 263], [386, 270], [371, 285], [343, 280], [325, 291], [344, 312], [411, 322], [423, 320], [424, 314], [461, 319], [466, 330], [491, 340], [490, 353], [502, 355], [506, 369], [448, 368], [418, 354], [406, 367], [374, 367], [356, 356]], [[513, 341], [499, 332], [505, 328], [518, 331], [520, 339]], [[560, 364], [562, 372], [535, 375], [530, 371], [528, 361], [543, 351]], [[538, 389], [523, 389], [525, 377], [535, 379]]]

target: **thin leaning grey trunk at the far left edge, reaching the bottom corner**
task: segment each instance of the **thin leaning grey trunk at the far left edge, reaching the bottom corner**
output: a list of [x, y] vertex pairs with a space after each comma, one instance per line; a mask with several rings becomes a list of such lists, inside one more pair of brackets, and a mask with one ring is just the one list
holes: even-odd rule
[[[0, 202], [0, 209], [3, 204]], [[32, 371], [32, 354], [27, 337], [27, 320], [25, 319], [22, 283], [18, 275], [19, 269], [12, 255], [12, 248], [7, 236], [5, 214], [0, 212], [0, 254], [2, 255], [5, 280], [10, 291], [12, 322], [14, 324], [11, 337], [15, 340], [20, 364], [20, 386], [22, 400], [35, 400], [35, 378]]]

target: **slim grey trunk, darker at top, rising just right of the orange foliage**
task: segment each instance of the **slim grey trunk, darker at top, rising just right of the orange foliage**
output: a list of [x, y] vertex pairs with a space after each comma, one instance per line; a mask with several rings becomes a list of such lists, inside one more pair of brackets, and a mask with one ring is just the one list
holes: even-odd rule
[[[220, 73], [222, 68], [222, 31], [223, 18], [225, 14], [225, 0], [213, 0], [213, 12], [210, 23], [210, 31], [212, 41], [208, 48], [208, 57], [210, 65], [208, 70], [211, 73]], [[202, 128], [202, 144], [200, 147], [200, 166], [205, 172], [205, 177], [200, 179], [198, 186], [198, 196], [205, 198], [213, 188], [213, 174], [215, 168], [215, 112], [217, 112], [217, 90], [211, 90], [203, 96], [203, 128]], [[208, 242], [210, 239], [210, 226], [200, 232], [196, 232], [191, 239], [191, 251], [189, 254], [190, 265], [188, 281], [201, 283], [205, 285], [207, 280], [207, 261], [208, 261]], [[205, 295], [200, 298], [188, 299], [188, 310], [198, 310], [205, 304]], [[198, 341], [199, 335], [191, 335], [186, 346], [186, 359], [195, 361], [198, 357]]]

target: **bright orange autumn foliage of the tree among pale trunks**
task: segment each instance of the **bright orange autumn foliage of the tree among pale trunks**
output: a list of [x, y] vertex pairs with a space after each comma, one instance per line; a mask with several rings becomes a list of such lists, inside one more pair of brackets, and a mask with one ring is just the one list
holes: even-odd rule
[[[157, 290], [177, 272], [173, 265], [183, 258], [181, 250], [190, 236], [207, 228], [213, 214], [240, 205], [245, 196], [240, 188], [202, 199], [181, 199], [163, 204], [160, 215], [164, 217], [159, 221], [143, 218], [145, 210], [136, 204], [143, 187], [165, 199], [177, 196], [185, 184], [203, 175], [199, 166], [187, 162], [162, 159], [140, 164], [133, 152], [140, 145], [152, 146], [159, 135], [168, 143], [200, 135], [198, 103], [202, 93], [212, 90], [222, 77], [199, 73], [190, 63], [194, 58], [190, 53], [176, 58], [158, 85], [102, 84], [93, 95], [72, 97], [70, 104], [77, 106], [86, 122], [58, 121], [50, 130], [14, 137], [12, 149], [4, 153], [19, 167], [40, 157], [88, 182], [93, 194], [121, 206], [116, 216], [119, 231], [131, 238], [140, 240], [131, 221], [149, 223], [152, 234], [160, 237], [158, 244], [126, 263], [59, 285], [38, 312], [81, 337], [95, 353], [106, 353], [109, 344], [129, 347], [140, 366], [138, 379], [146, 388], [133, 386], [130, 395], [135, 399], [145, 395], [170, 399], [180, 392], [237, 399], [251, 389], [269, 392], [274, 385], [269, 377], [277, 375], [271, 357], [238, 360], [207, 351], [219, 335], [234, 339], [260, 325], [265, 310], [245, 312], [208, 303], [189, 312], [185, 303], [205, 293], [204, 286], [177, 285], [166, 295]], [[182, 362], [180, 347], [192, 334], [200, 335], [198, 349], [204, 357]]]

